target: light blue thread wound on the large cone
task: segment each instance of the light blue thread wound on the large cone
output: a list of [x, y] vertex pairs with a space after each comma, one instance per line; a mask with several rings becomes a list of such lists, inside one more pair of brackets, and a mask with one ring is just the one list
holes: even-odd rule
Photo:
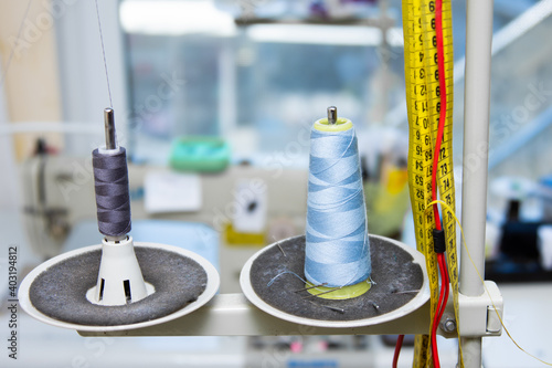
[[[316, 126], [316, 125], [315, 125]], [[354, 128], [310, 134], [305, 276], [315, 285], [370, 277], [370, 242]]]

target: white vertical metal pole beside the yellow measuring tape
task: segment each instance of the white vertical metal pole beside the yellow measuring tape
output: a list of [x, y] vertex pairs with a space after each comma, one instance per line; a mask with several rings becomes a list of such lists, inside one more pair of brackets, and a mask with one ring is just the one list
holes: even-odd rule
[[[461, 222], [475, 266], [484, 275], [492, 0], [467, 0], [466, 19]], [[481, 295], [481, 281], [464, 248], [460, 260], [460, 293], [466, 296]], [[466, 367], [481, 367], [480, 337], [463, 338], [461, 348]]]

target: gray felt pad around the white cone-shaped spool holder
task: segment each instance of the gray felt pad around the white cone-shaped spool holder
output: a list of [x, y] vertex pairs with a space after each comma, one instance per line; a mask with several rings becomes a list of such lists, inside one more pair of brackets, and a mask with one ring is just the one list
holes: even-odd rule
[[41, 313], [67, 323], [117, 326], [167, 316], [194, 302], [205, 290], [206, 273], [195, 261], [167, 250], [135, 246], [144, 280], [156, 292], [139, 302], [100, 306], [86, 298], [96, 285], [102, 251], [83, 253], [42, 272], [29, 296]]

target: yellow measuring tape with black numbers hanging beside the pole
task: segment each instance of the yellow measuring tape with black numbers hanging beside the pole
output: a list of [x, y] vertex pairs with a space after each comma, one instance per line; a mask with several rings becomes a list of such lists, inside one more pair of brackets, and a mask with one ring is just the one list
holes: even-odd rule
[[[416, 244], [426, 257], [431, 288], [431, 320], [438, 303], [438, 265], [433, 250], [435, 220], [432, 210], [432, 169], [440, 113], [440, 88], [437, 65], [437, 38], [434, 0], [403, 0], [404, 71], [408, 112], [408, 185], [414, 214]], [[450, 0], [443, 0], [443, 39], [447, 95], [446, 125], [440, 146], [437, 182], [440, 198], [449, 206], [443, 211], [447, 244], [447, 263], [458, 324], [458, 259], [454, 222], [455, 189], [453, 174], [453, 95], [454, 52]], [[453, 211], [453, 212], [450, 212]], [[428, 327], [428, 332], [431, 326]], [[459, 329], [458, 329], [459, 336]], [[432, 365], [429, 336], [416, 336], [414, 367]], [[460, 357], [460, 367], [464, 364]]]

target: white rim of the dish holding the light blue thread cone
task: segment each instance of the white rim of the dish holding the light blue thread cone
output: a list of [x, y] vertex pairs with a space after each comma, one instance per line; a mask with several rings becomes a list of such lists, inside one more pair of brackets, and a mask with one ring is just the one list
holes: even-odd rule
[[[429, 286], [428, 286], [428, 280], [427, 280], [427, 271], [425, 267], [425, 257], [422, 253], [416, 251], [415, 249], [403, 244], [401, 242], [397, 242], [392, 239], [383, 238], [383, 236], [378, 236], [378, 235], [370, 235], [371, 238], [380, 238], [384, 239], [388, 242], [392, 242], [393, 244], [400, 246], [402, 250], [407, 252], [414, 257], [414, 263], [418, 264], [422, 267], [422, 273], [424, 275], [424, 283], [421, 287], [421, 291], [412, 298], [408, 303], [403, 305], [402, 307], [392, 311], [390, 313], [371, 317], [371, 318], [364, 318], [364, 319], [357, 319], [357, 320], [321, 320], [321, 319], [312, 319], [312, 318], [306, 318], [306, 317], [299, 317], [286, 312], [283, 312], [280, 309], [275, 308], [274, 306], [269, 305], [265, 301], [263, 301], [253, 290], [253, 285], [251, 283], [251, 267], [253, 265], [253, 262], [269, 250], [270, 248], [277, 246], [277, 243], [274, 243], [272, 245], [267, 245], [257, 253], [255, 253], [244, 265], [242, 269], [242, 273], [240, 274], [240, 284], [242, 285], [242, 291], [247, 297], [247, 299], [253, 303], [256, 307], [259, 309], [268, 313], [269, 315], [273, 315], [277, 318], [285, 319], [291, 323], [300, 324], [300, 325], [307, 325], [307, 326], [315, 326], [315, 327], [333, 327], [333, 328], [344, 328], [344, 327], [363, 327], [363, 326], [372, 326], [372, 325], [378, 325], [382, 324], [385, 322], [390, 322], [393, 319], [401, 318], [403, 316], [406, 316], [421, 306], [423, 306], [428, 299], [429, 299]], [[287, 240], [287, 239], [286, 239]], [[285, 242], [286, 240], [283, 240], [280, 242]], [[370, 291], [369, 291], [370, 293]]]

